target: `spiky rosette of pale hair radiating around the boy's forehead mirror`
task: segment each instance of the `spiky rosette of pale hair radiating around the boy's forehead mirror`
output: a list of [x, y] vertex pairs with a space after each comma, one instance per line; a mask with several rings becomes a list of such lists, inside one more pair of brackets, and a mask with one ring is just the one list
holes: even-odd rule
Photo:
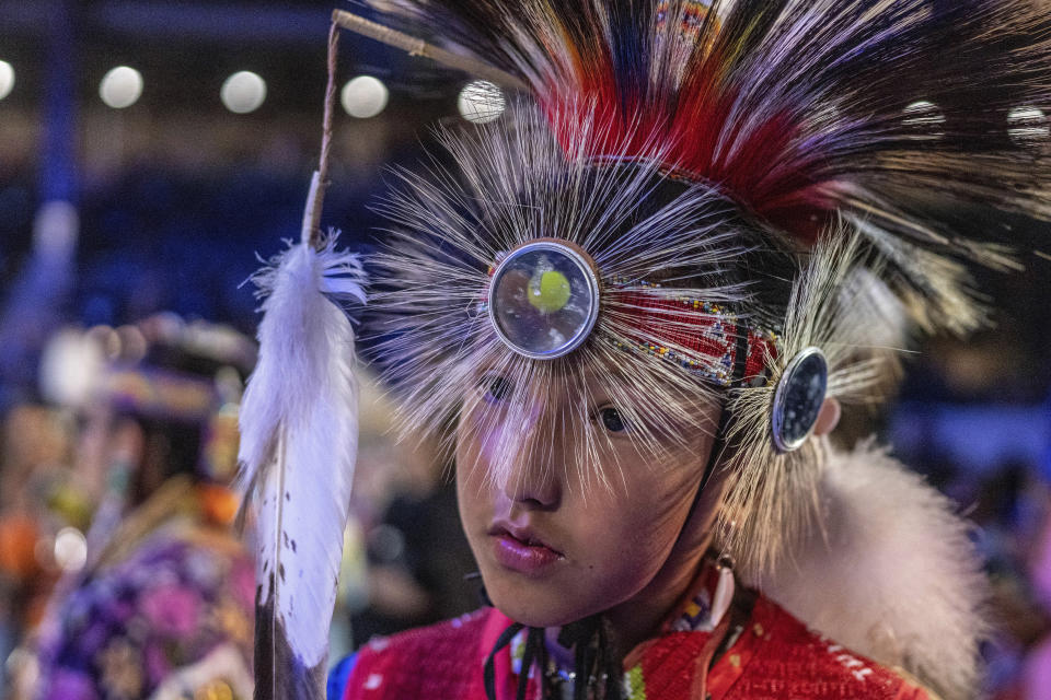
[[[720, 400], [735, 374], [727, 357], [755, 375], [770, 341], [729, 311], [747, 307], [759, 291], [735, 267], [762, 259], [771, 271], [767, 289], [782, 290], [784, 304], [785, 280], [796, 273], [792, 256], [760, 250], [758, 235], [711, 187], [669, 184], [651, 162], [596, 167], [582, 150], [567, 154], [546, 117], [527, 106], [516, 108], [513, 120], [471, 135], [446, 131], [441, 140], [458, 171], [436, 161], [430, 178], [400, 172], [405, 186], [380, 207], [396, 229], [373, 257], [386, 282], [371, 300], [384, 332], [377, 357], [403, 393], [406, 432], [439, 434], [457, 413], [475, 416], [459, 429], [500, 435], [487, 452], [485, 476], [501, 482], [515, 460], [552, 448], [543, 435], [565, 430], [578, 440], [564, 468], [580, 471], [586, 491], [620, 482], [617, 472], [597, 469], [610, 436], [592, 396], [617, 407], [647, 459], [698, 448], [716, 428], [704, 409]], [[538, 361], [500, 337], [489, 292], [495, 262], [545, 238], [584, 250], [601, 270], [603, 313], [571, 354]], [[516, 277], [511, 270], [501, 279]], [[534, 301], [559, 301], [552, 284], [559, 273], [541, 278], [551, 299]], [[562, 401], [563, 393], [580, 399]], [[501, 423], [532, 430], [495, 430]]]

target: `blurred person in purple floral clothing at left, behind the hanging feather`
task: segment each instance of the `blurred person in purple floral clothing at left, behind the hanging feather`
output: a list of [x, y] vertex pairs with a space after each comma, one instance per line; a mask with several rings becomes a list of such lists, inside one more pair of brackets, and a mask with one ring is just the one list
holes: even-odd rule
[[71, 561], [35, 653], [16, 656], [16, 698], [250, 697], [253, 564], [227, 486], [254, 352], [228, 328], [158, 315], [45, 353], [45, 393], [80, 401], [78, 477], [96, 508], [86, 532], [56, 539]]

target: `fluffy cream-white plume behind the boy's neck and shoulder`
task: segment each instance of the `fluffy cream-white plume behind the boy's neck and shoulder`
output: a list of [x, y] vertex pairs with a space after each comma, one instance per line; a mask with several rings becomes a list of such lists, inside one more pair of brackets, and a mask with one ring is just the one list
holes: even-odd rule
[[986, 581], [952, 503], [873, 441], [830, 451], [815, 527], [759, 582], [812, 629], [973, 697]]

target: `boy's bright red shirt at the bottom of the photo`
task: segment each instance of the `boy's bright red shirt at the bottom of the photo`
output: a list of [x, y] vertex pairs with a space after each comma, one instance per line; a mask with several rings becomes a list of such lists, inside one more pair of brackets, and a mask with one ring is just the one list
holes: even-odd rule
[[[761, 595], [743, 619], [727, 615], [713, 629], [715, 580], [705, 569], [660, 634], [625, 657], [628, 700], [936, 700], [906, 674], [824, 639]], [[483, 668], [509, 625], [483, 608], [373, 640], [358, 652], [343, 700], [486, 700]], [[512, 700], [520, 640], [497, 655], [495, 669], [497, 700]], [[535, 679], [530, 685], [529, 697], [539, 697]]]

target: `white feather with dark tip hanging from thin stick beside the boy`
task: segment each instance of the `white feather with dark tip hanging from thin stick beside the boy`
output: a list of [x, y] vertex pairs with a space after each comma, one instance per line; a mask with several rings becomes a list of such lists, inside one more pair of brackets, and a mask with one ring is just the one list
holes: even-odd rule
[[333, 27], [321, 166], [301, 241], [252, 278], [264, 316], [241, 407], [239, 480], [255, 513], [257, 700], [324, 698], [357, 453], [355, 331], [338, 302], [365, 303], [365, 276], [357, 256], [336, 249], [336, 234], [317, 230], [336, 48]]

